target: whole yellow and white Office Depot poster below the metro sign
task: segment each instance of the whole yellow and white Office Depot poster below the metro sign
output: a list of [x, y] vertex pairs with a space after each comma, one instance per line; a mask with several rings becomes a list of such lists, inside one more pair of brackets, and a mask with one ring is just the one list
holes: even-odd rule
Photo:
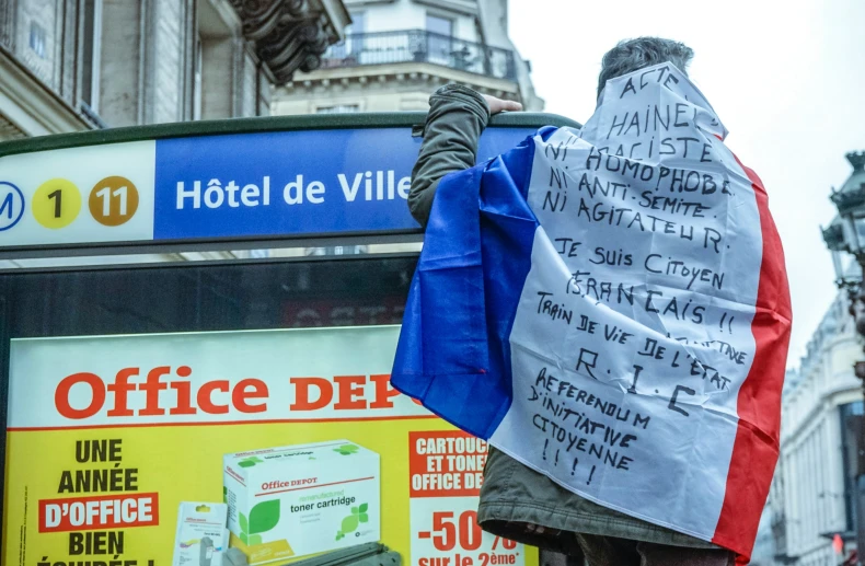
[[0, 562], [170, 566], [233, 546], [286, 564], [381, 543], [413, 566], [535, 566], [476, 524], [486, 443], [391, 388], [397, 336], [13, 339]]

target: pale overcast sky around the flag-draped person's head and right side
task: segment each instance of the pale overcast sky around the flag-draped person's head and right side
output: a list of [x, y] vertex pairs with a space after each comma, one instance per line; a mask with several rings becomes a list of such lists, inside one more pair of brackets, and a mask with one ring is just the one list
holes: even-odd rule
[[798, 366], [834, 297], [820, 224], [844, 153], [865, 150], [865, 1], [511, 0], [510, 36], [546, 112], [585, 123], [603, 54], [656, 35], [694, 49], [690, 76], [765, 184], [793, 296], [788, 366]]

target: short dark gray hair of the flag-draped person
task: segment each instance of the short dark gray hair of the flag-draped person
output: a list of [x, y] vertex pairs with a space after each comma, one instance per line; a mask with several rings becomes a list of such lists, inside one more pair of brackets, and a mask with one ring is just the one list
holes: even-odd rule
[[673, 63], [687, 77], [688, 63], [693, 57], [693, 49], [672, 39], [637, 37], [619, 42], [619, 45], [607, 51], [601, 60], [598, 97], [601, 96], [608, 80], [661, 62]]

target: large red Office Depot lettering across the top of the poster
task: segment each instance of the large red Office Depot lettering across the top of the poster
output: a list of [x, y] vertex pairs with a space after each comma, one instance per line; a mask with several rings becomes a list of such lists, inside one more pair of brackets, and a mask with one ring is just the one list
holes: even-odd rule
[[[108, 379], [90, 372], [65, 377], [54, 404], [73, 420], [95, 416], [170, 417], [186, 415], [261, 415], [273, 408], [310, 413], [394, 408], [400, 393], [390, 376], [287, 377], [284, 383], [256, 378], [196, 379], [191, 366], [124, 368]], [[287, 386], [286, 386], [287, 382]], [[272, 398], [272, 390], [277, 392]], [[374, 416], [374, 415], [371, 415]]]

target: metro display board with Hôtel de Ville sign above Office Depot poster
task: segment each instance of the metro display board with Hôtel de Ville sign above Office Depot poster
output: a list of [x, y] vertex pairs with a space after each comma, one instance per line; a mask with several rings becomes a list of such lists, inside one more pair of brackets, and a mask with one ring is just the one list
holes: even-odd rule
[[[0, 145], [0, 257], [419, 241], [405, 200], [420, 123]], [[478, 161], [564, 123], [497, 117]], [[537, 548], [477, 525], [486, 443], [391, 386], [416, 258], [0, 272], [0, 564], [219, 566], [237, 548], [342, 566], [373, 548], [412, 566], [537, 566]]]

